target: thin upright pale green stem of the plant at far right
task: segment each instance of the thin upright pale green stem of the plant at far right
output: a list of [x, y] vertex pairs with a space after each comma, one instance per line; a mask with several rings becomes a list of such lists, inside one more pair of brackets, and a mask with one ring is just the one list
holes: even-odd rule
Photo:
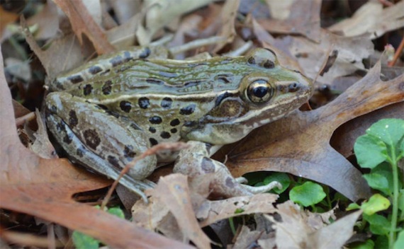
[[393, 214], [391, 215], [390, 232], [388, 233], [388, 248], [393, 248], [395, 241], [395, 228], [398, 216], [398, 161], [395, 156], [394, 147], [391, 148], [391, 168], [393, 171]]

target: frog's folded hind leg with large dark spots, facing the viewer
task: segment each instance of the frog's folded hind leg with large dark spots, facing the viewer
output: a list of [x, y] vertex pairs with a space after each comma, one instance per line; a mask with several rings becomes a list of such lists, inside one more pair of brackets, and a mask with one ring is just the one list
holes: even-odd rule
[[[135, 124], [111, 115], [98, 105], [69, 93], [50, 93], [46, 98], [47, 127], [69, 158], [116, 180], [120, 170], [150, 147], [145, 134]], [[157, 158], [148, 156], [120, 180], [138, 193], [150, 184], [143, 180], [155, 169]]]

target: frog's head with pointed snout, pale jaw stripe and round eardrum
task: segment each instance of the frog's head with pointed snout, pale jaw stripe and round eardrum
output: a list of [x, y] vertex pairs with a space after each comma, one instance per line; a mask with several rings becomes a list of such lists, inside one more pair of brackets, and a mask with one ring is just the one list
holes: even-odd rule
[[271, 50], [252, 50], [244, 59], [253, 69], [237, 91], [216, 97], [215, 107], [189, 130], [187, 139], [229, 144], [288, 115], [310, 98], [313, 83], [299, 71], [281, 66]]

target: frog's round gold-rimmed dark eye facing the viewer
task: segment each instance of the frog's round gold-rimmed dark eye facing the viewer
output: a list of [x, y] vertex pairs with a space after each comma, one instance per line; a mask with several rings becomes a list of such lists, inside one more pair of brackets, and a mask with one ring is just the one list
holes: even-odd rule
[[274, 88], [267, 81], [257, 79], [246, 89], [247, 98], [255, 104], [266, 103], [274, 95]]

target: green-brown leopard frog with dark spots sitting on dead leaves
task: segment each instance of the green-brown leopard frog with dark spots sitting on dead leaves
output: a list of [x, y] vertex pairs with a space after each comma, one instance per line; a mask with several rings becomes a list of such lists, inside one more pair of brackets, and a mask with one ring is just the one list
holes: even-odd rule
[[193, 60], [168, 59], [158, 51], [123, 50], [58, 76], [45, 98], [52, 137], [70, 160], [114, 180], [152, 146], [188, 143], [179, 153], [140, 159], [120, 178], [144, 200], [144, 190], [154, 184], [147, 177], [158, 163], [170, 162], [176, 172], [218, 173], [223, 195], [254, 194], [212, 154], [298, 109], [313, 83], [266, 48]]

